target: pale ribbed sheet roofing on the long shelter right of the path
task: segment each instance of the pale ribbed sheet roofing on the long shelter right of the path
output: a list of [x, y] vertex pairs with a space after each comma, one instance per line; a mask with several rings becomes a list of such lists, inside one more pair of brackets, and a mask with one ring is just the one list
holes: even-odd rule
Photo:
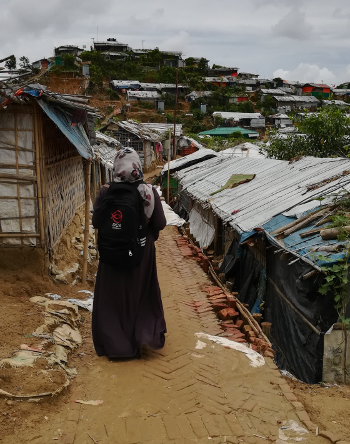
[[[302, 212], [317, 207], [315, 198], [341, 186], [350, 189], [350, 175], [342, 176], [344, 171], [350, 171], [350, 160], [342, 158], [306, 157], [290, 164], [274, 159], [217, 156], [176, 173], [176, 177], [185, 192], [204, 207], [211, 207], [225, 223], [239, 232], [250, 232], [292, 208]], [[233, 174], [256, 176], [248, 183], [210, 196]], [[337, 179], [308, 190], [310, 185], [332, 178]]]

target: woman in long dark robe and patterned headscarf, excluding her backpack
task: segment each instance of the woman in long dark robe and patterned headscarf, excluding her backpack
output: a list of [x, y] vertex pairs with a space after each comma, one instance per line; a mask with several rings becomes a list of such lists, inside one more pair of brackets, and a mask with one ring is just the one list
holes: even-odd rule
[[[92, 336], [97, 355], [110, 359], [140, 357], [142, 345], [158, 350], [165, 342], [166, 324], [154, 242], [159, 231], [164, 229], [166, 219], [157, 191], [142, 179], [136, 151], [132, 148], [119, 150], [114, 161], [113, 181], [137, 187], [143, 200], [147, 234], [142, 260], [136, 268], [113, 267], [101, 260], [98, 266]], [[99, 227], [98, 218], [108, 190], [106, 184], [97, 195], [92, 217], [95, 228]]]

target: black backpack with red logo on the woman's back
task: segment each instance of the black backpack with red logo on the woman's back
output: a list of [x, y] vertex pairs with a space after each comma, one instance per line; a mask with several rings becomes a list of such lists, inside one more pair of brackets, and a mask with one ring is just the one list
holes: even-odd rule
[[102, 199], [96, 228], [100, 261], [115, 268], [136, 268], [146, 245], [147, 225], [140, 182], [112, 182]]

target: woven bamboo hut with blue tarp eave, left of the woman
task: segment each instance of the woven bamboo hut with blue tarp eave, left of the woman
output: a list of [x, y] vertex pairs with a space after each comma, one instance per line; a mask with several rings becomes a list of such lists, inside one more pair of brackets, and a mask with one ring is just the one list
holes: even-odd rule
[[0, 96], [0, 248], [41, 249], [49, 260], [84, 206], [88, 240], [96, 110], [38, 84]]

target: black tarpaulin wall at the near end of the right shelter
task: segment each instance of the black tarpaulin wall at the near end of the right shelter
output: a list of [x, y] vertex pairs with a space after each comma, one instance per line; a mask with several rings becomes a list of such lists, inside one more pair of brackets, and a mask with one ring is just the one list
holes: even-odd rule
[[322, 380], [323, 333], [337, 321], [338, 315], [333, 296], [324, 296], [317, 291], [323, 276], [318, 274], [302, 279], [313, 270], [312, 266], [303, 262], [288, 266], [289, 260], [290, 255], [274, 254], [274, 249], [267, 249], [264, 320], [272, 323], [271, 340], [278, 367], [302, 381], [317, 383]]

